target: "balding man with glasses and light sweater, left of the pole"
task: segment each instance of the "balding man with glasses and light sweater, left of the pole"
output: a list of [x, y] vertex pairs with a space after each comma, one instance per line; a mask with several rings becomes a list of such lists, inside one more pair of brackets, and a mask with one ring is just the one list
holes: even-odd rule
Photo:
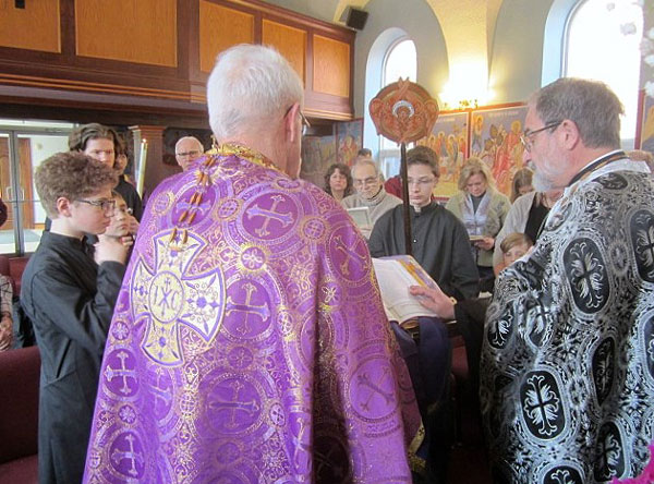
[[379, 217], [402, 201], [395, 195], [386, 193], [377, 164], [370, 158], [359, 160], [352, 167], [352, 181], [356, 193], [346, 196], [341, 201], [343, 208], [367, 207], [370, 210], [371, 226], [361, 228], [361, 232], [367, 239]]

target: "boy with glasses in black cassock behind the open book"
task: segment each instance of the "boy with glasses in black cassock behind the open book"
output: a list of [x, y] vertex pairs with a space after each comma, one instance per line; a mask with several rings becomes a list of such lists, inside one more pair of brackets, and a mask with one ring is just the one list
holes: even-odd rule
[[[440, 176], [438, 155], [426, 146], [410, 149], [407, 171], [413, 257], [446, 294], [458, 300], [475, 298], [480, 277], [465, 227], [432, 199]], [[398, 205], [375, 223], [368, 241], [373, 257], [407, 253], [402, 210]]]

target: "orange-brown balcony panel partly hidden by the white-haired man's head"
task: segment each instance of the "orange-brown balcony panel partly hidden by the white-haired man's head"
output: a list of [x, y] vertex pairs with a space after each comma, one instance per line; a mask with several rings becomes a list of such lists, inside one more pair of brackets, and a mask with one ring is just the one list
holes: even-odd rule
[[199, 1], [199, 70], [211, 72], [216, 56], [238, 44], [254, 43], [254, 15]]

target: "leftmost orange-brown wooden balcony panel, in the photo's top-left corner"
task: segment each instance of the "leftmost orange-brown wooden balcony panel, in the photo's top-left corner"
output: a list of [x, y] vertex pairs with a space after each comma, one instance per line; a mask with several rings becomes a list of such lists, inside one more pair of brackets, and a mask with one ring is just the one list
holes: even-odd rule
[[24, 9], [0, 0], [0, 46], [61, 52], [59, 0], [27, 1]]

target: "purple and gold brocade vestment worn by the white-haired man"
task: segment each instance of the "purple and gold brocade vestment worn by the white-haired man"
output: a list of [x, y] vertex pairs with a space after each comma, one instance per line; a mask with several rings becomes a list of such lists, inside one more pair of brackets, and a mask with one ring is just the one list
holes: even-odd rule
[[364, 239], [307, 182], [196, 167], [148, 202], [84, 482], [411, 482], [420, 414]]

